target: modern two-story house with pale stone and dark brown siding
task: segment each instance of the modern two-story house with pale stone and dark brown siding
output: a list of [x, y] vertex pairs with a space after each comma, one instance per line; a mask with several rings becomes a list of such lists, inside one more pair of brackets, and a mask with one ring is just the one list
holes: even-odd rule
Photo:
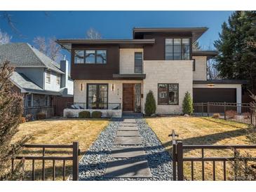
[[[213, 50], [192, 50], [208, 28], [134, 28], [133, 39], [59, 39], [71, 52], [74, 102], [86, 109], [144, 112], [149, 90], [157, 114], [182, 114], [194, 102], [241, 102], [243, 81], [207, 80]], [[83, 104], [83, 105], [82, 105]]]

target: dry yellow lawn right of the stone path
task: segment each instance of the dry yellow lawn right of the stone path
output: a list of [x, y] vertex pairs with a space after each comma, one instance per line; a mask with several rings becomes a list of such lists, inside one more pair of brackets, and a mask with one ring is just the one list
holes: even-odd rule
[[[163, 146], [172, 155], [171, 138], [168, 135], [172, 130], [179, 135], [177, 139], [182, 139], [183, 144], [250, 144], [247, 130], [248, 125], [232, 121], [224, 121], [215, 118], [198, 117], [158, 117], [147, 118], [149, 126], [159, 137]], [[241, 151], [242, 153], [245, 151]], [[251, 150], [250, 154], [256, 156], [256, 151]], [[231, 150], [212, 150], [205, 151], [206, 157], [232, 156]], [[184, 151], [185, 157], [201, 157], [201, 150]], [[216, 179], [223, 179], [223, 163], [216, 163]], [[230, 165], [227, 165], [227, 174], [231, 175]], [[191, 179], [191, 163], [184, 163], [184, 177]], [[213, 163], [205, 163], [206, 180], [213, 179]], [[201, 163], [194, 163], [194, 179], [201, 180]], [[230, 178], [231, 179], [231, 178]]]

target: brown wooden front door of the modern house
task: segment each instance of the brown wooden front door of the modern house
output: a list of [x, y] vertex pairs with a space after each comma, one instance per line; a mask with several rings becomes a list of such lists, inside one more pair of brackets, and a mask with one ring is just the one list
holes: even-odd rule
[[134, 111], [133, 83], [123, 83], [123, 111]]

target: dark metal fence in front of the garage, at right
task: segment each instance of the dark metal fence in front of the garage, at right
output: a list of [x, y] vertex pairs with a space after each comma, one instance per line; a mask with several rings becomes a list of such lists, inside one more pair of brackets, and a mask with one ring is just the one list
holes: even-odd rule
[[220, 118], [230, 121], [237, 121], [256, 125], [255, 109], [250, 104], [227, 103], [227, 102], [207, 102], [193, 104], [194, 116], [213, 116], [220, 114]]

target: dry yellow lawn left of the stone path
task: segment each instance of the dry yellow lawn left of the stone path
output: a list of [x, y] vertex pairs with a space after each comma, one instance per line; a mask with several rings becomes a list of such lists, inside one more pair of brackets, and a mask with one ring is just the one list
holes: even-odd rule
[[[72, 144], [79, 142], [81, 156], [88, 150], [91, 144], [97, 139], [97, 136], [104, 130], [109, 121], [105, 119], [51, 119], [45, 121], [32, 121], [20, 124], [19, 131], [13, 138], [13, 141], [22, 138], [25, 135], [31, 135], [28, 144]], [[41, 156], [40, 149], [25, 149], [22, 151], [26, 156]], [[72, 156], [72, 149], [46, 149], [46, 156]], [[81, 158], [79, 156], [79, 158]], [[52, 179], [53, 161], [46, 160], [46, 180]], [[55, 162], [55, 179], [62, 179], [62, 161]], [[32, 161], [25, 161], [25, 170], [28, 179], [31, 179]], [[35, 161], [36, 180], [41, 180], [42, 161]], [[72, 173], [72, 161], [66, 162], [66, 176]], [[67, 177], [65, 179], [67, 179]]]

